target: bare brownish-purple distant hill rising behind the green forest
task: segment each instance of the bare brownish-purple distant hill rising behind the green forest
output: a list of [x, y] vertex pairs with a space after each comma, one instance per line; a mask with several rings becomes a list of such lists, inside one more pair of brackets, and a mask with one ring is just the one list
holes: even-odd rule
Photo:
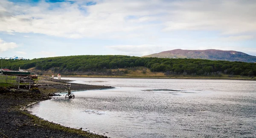
[[175, 49], [164, 51], [156, 54], [146, 55], [143, 57], [156, 58], [199, 58], [208, 60], [227, 60], [227, 61], [242, 61], [242, 62], [256, 62], [256, 56], [248, 55], [237, 51], [224, 50], [182, 50]]

